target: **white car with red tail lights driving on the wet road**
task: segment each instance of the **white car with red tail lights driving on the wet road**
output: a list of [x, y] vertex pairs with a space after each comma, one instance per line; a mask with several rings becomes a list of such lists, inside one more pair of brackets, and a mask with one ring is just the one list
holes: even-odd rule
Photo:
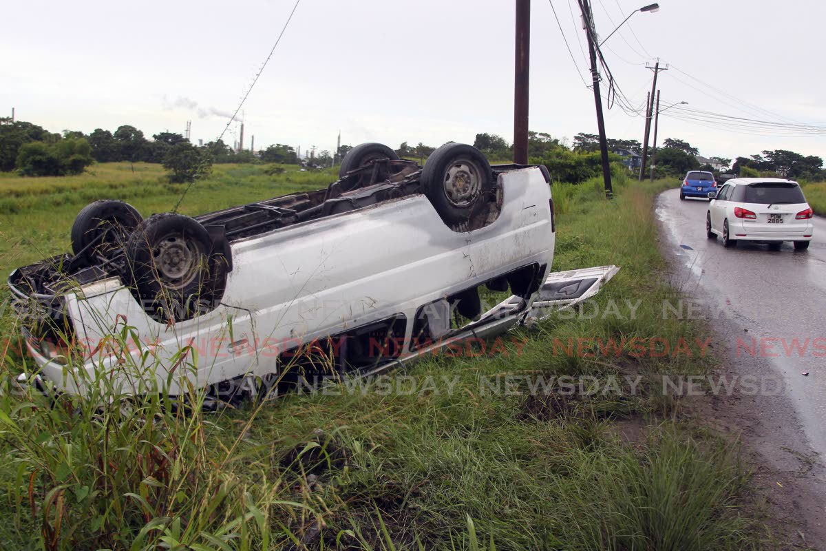
[[709, 239], [719, 235], [726, 247], [743, 240], [775, 249], [783, 241], [792, 241], [798, 250], [809, 248], [814, 211], [798, 183], [781, 178], [733, 178], [708, 196], [712, 199], [705, 215]]

